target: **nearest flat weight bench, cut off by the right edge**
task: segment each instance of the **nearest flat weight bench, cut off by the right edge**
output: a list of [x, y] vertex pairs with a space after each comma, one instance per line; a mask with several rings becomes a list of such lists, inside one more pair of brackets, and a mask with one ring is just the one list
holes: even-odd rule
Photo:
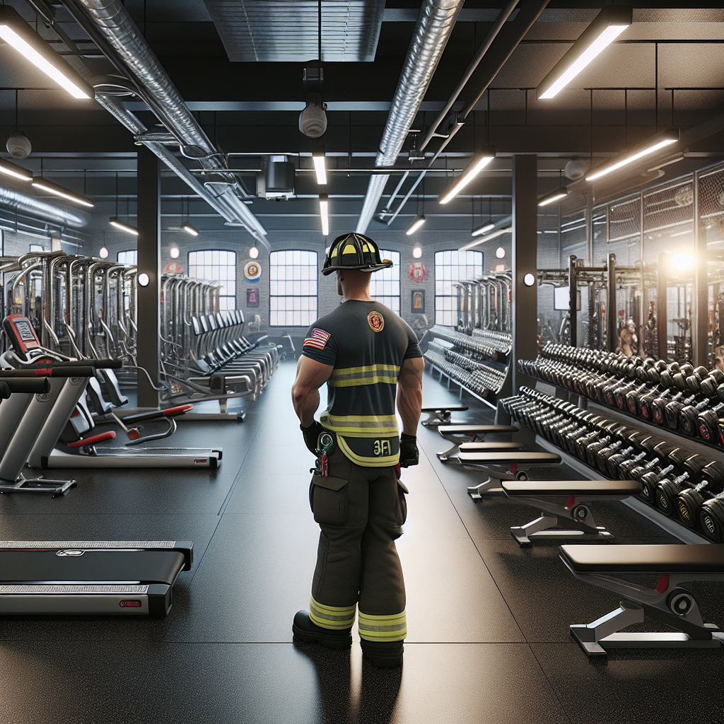
[[[571, 636], [588, 656], [606, 649], [716, 648], [724, 644], [720, 626], [704, 623], [691, 594], [694, 581], [724, 581], [724, 543], [704, 545], [563, 545], [563, 560], [573, 576], [623, 595], [620, 606], [589, 624], [571, 626]], [[659, 574], [654, 589], [618, 576]], [[644, 615], [677, 633], [618, 633], [641, 623]]]

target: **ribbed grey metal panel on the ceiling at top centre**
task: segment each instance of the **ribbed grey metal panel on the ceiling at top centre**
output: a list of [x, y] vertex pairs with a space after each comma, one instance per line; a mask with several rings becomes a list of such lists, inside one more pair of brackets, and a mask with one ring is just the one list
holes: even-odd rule
[[[306, 62], [317, 56], [318, 6], [311, 0], [205, 0], [231, 62]], [[371, 62], [384, 0], [324, 0], [322, 59]]]

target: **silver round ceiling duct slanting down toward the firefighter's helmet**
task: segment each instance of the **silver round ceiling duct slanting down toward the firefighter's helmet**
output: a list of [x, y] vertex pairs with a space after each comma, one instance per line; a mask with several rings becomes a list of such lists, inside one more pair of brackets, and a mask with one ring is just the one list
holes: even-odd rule
[[[424, 0], [379, 143], [376, 167], [392, 166], [397, 161], [461, 7], [463, 0]], [[369, 227], [389, 178], [387, 174], [370, 177], [358, 233]]]

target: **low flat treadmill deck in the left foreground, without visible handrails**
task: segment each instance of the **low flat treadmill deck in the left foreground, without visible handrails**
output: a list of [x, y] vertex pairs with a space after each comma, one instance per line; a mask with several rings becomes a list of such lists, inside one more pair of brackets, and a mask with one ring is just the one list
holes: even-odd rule
[[190, 541], [0, 541], [0, 615], [165, 616]]

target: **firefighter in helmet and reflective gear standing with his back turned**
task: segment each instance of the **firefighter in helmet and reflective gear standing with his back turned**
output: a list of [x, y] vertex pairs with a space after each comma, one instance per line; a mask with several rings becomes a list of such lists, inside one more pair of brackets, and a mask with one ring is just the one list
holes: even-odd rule
[[[322, 274], [337, 272], [344, 301], [308, 329], [292, 387], [304, 442], [317, 456], [309, 500], [321, 528], [310, 610], [295, 615], [292, 631], [347, 648], [358, 609], [363, 655], [380, 668], [402, 665], [407, 635], [395, 539], [407, 514], [400, 466], [418, 464], [424, 369], [416, 334], [369, 295], [371, 272], [390, 266], [369, 237], [332, 242]], [[329, 405], [316, 421], [324, 382]]]

